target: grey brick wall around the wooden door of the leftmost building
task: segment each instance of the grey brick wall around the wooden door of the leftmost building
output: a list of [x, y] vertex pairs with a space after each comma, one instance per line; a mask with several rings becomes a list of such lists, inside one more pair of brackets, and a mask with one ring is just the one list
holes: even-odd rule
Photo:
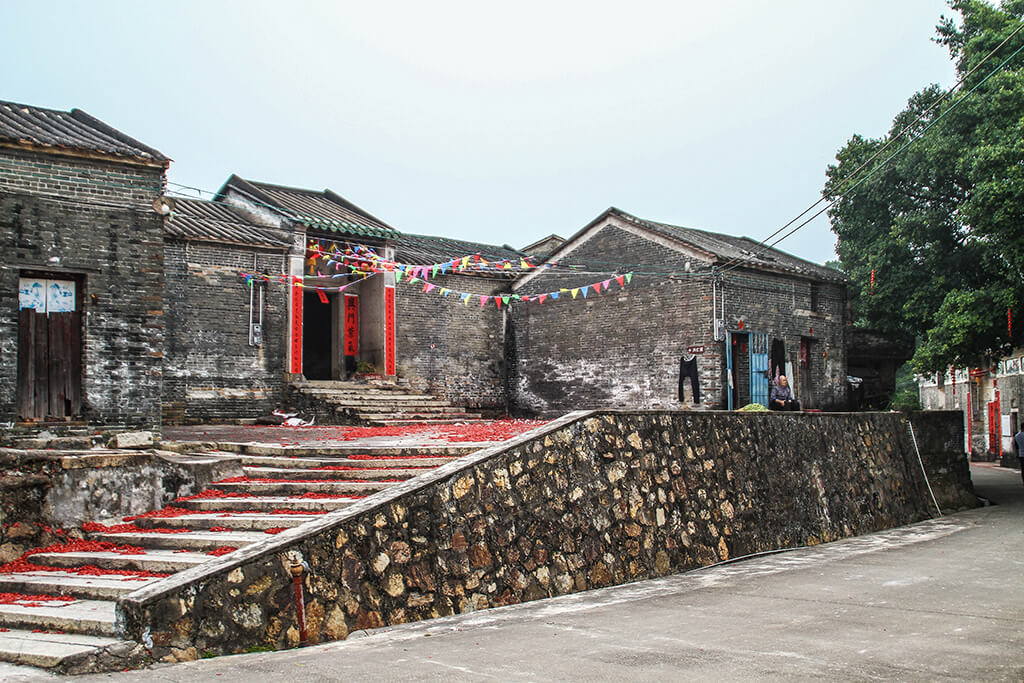
[[[92, 184], [113, 177], [138, 187]], [[17, 281], [34, 271], [82, 287], [82, 417], [160, 424], [162, 181], [162, 168], [0, 148], [0, 419], [17, 417]]]

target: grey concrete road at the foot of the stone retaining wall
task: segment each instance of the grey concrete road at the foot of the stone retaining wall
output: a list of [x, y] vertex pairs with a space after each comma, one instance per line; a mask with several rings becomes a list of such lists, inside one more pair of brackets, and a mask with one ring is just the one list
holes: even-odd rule
[[76, 681], [1021, 681], [1024, 486], [1016, 470], [973, 472], [998, 505], [341, 643]]

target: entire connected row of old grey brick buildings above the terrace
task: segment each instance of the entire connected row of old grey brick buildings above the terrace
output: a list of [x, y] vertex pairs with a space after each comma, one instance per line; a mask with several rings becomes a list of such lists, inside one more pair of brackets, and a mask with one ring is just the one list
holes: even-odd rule
[[609, 209], [530, 257], [238, 175], [170, 201], [167, 158], [77, 110], [0, 105], [0, 419], [254, 418], [353, 373], [495, 413], [675, 407], [681, 368], [702, 407], [780, 372], [846, 404], [843, 275], [744, 238]]

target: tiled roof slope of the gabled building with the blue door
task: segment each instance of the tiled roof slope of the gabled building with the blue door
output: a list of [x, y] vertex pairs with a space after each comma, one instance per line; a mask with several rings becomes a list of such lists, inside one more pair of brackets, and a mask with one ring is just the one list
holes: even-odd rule
[[609, 209], [605, 213], [610, 213], [628, 222], [646, 227], [663, 237], [685, 242], [699, 251], [716, 257], [720, 263], [739, 264], [742, 267], [784, 270], [819, 280], [846, 282], [846, 275], [835, 268], [807, 261], [772, 247], [766, 248], [751, 238], [737, 238], [732, 234], [722, 234], [721, 232], [698, 230], [693, 227], [659, 223], [653, 220], [638, 218], [614, 208]]

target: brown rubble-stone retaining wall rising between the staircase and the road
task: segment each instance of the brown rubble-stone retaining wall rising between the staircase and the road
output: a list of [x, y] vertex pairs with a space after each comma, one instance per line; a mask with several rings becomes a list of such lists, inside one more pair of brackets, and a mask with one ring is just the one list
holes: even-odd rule
[[122, 598], [158, 659], [311, 642], [925, 519], [899, 414], [560, 418]]

